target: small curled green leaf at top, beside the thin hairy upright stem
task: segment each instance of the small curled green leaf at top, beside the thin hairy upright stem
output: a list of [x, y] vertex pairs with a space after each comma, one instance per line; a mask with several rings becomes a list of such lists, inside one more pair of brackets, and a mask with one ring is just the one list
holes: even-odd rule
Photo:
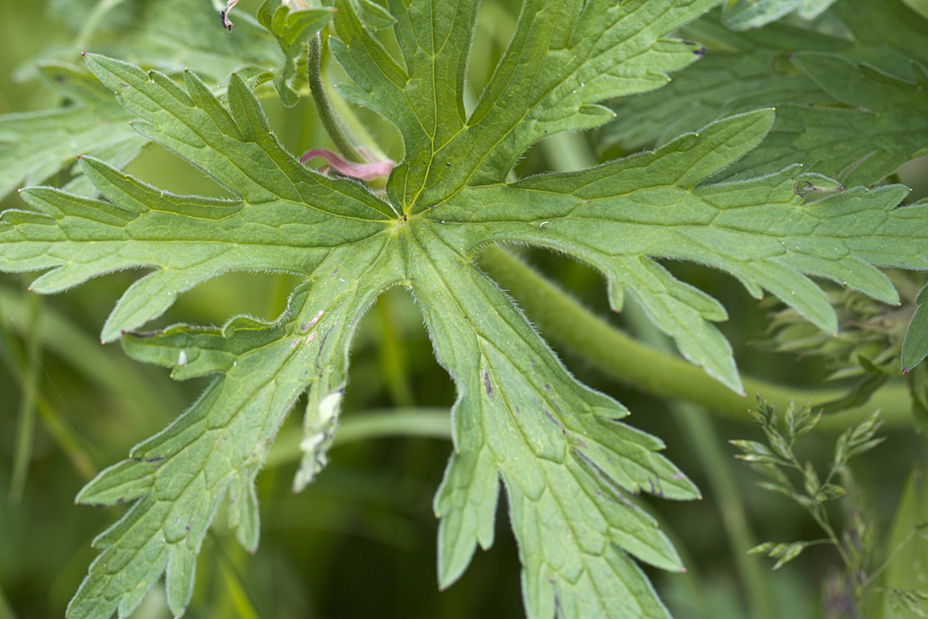
[[330, 8], [294, 10], [276, 0], [265, 0], [258, 9], [258, 20], [274, 35], [284, 53], [283, 66], [274, 76], [274, 87], [284, 105], [296, 105], [298, 80], [302, 78], [305, 83], [306, 43], [329, 23], [331, 16]]

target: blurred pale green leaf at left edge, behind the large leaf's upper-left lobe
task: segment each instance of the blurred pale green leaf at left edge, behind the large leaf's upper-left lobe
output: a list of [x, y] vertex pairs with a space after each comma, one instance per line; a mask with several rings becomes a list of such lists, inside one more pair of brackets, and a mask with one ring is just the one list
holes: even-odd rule
[[129, 127], [131, 114], [90, 72], [65, 64], [45, 64], [40, 72], [49, 89], [71, 103], [0, 116], [0, 198], [22, 183], [43, 182], [78, 153], [125, 165], [146, 142]]

